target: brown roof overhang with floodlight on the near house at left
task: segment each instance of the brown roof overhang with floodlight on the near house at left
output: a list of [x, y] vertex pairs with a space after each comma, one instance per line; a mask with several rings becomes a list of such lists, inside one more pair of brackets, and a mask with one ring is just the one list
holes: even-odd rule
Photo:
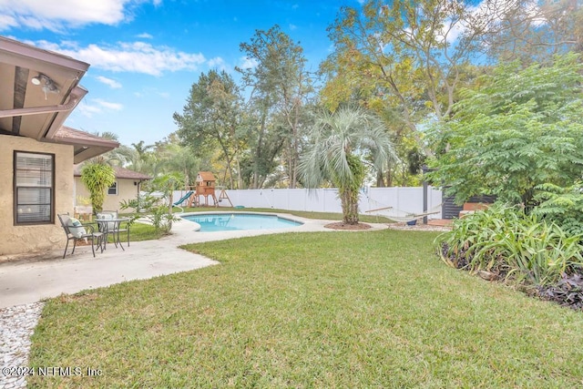
[[79, 81], [88, 68], [69, 56], [0, 36], [0, 134], [72, 145], [76, 163], [117, 148], [118, 142], [87, 142], [80, 135], [85, 133], [62, 127], [87, 95]]

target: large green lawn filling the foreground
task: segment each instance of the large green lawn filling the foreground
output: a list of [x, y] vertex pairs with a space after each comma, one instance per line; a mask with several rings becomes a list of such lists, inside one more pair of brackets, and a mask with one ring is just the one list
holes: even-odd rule
[[220, 265], [46, 303], [31, 387], [576, 387], [583, 315], [455, 271], [435, 233], [189, 245]]

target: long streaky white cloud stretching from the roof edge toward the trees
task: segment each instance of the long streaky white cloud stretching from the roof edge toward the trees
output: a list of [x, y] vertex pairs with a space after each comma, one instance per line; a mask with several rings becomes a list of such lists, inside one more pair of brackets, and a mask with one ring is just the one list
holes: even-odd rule
[[[2, 1], [2, 0], [0, 0]], [[160, 76], [166, 71], [196, 70], [206, 59], [202, 54], [176, 51], [168, 46], [152, 46], [144, 42], [118, 42], [116, 46], [77, 46], [72, 42], [60, 45], [39, 41], [36, 46], [72, 56], [91, 67], [114, 72], [135, 72]]]

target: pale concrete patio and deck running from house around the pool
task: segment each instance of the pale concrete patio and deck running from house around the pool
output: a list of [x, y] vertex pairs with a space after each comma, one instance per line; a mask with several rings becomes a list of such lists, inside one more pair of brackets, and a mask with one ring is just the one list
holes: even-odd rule
[[[246, 212], [247, 213], [247, 212]], [[259, 213], [259, 212], [258, 212]], [[63, 250], [44, 251], [27, 255], [0, 256], [0, 308], [38, 302], [62, 293], [75, 293], [87, 289], [133, 280], [146, 280], [179, 271], [191, 271], [219, 264], [209, 258], [178, 246], [187, 243], [222, 241], [271, 233], [329, 231], [324, 225], [331, 220], [304, 219], [286, 213], [278, 216], [302, 221], [297, 227], [277, 230], [246, 230], [197, 232], [196, 224], [188, 220], [173, 223], [171, 235], [157, 241], [130, 242], [125, 251], [107, 244], [107, 250], [97, 252], [93, 258], [91, 247], [77, 247], [75, 254]], [[385, 224], [367, 223], [370, 230], [384, 230]]]

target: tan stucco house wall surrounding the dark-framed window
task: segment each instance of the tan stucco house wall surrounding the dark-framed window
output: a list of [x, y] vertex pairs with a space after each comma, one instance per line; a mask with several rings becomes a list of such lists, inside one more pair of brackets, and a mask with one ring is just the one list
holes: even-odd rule
[[[55, 222], [15, 226], [14, 151], [55, 154]], [[73, 214], [73, 147], [0, 135], [0, 255], [64, 249], [66, 236], [56, 214]]]

